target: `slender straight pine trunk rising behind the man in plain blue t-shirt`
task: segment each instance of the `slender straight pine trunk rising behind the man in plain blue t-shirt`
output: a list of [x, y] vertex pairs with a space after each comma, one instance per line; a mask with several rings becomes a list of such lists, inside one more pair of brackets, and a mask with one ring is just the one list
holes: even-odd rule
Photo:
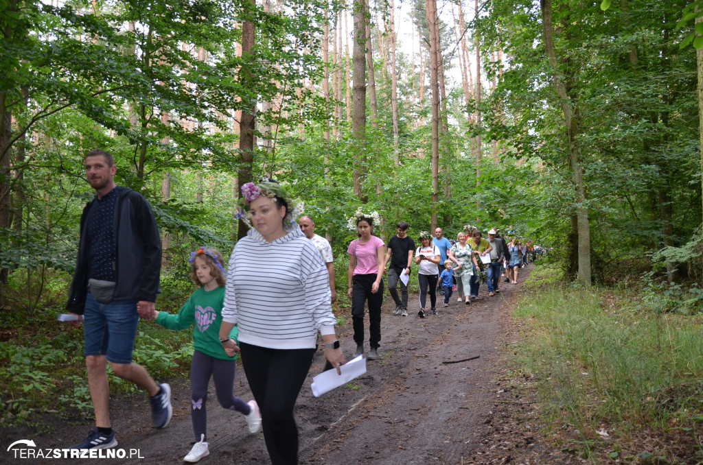
[[437, 58], [437, 0], [425, 0], [427, 22], [430, 24], [430, 87], [432, 88], [432, 230], [437, 228], [439, 204], [439, 63]]

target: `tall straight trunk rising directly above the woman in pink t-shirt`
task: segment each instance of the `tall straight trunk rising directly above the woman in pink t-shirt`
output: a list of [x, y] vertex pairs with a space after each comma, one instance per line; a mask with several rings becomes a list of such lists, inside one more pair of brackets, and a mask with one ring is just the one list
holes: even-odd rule
[[366, 173], [366, 8], [364, 0], [354, 0], [354, 113], [352, 137], [354, 146], [354, 195], [366, 203], [362, 185]]

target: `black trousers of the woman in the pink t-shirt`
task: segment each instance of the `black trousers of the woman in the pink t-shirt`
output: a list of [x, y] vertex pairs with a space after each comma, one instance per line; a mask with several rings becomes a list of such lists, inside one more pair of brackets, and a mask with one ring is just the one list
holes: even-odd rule
[[378, 285], [378, 292], [371, 293], [376, 275], [354, 275], [352, 278], [352, 324], [354, 341], [357, 346], [363, 344], [363, 307], [368, 301], [368, 342], [371, 348], [378, 348], [381, 341], [381, 304], [383, 303], [383, 280]]

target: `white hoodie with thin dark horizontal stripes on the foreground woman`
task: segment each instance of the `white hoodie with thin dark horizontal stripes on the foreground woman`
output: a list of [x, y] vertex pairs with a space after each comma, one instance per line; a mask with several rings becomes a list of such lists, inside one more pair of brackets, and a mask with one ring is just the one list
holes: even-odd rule
[[315, 348], [317, 332], [334, 334], [330, 277], [315, 245], [297, 224], [267, 242], [255, 229], [229, 258], [222, 320], [254, 346]]

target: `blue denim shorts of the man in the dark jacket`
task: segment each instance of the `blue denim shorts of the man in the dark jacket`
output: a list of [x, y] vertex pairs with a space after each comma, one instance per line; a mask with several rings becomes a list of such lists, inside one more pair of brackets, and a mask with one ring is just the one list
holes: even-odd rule
[[85, 355], [107, 355], [108, 362], [131, 363], [139, 314], [136, 300], [100, 303], [88, 291], [83, 315]]

